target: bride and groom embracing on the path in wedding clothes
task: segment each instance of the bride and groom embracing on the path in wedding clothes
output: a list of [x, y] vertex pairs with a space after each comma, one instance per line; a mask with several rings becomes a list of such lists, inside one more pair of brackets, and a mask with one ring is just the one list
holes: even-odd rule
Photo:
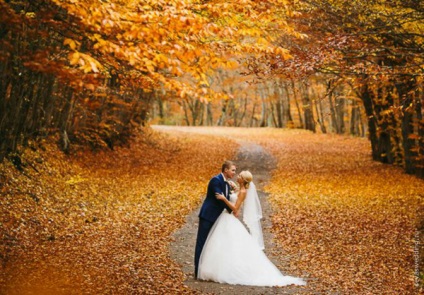
[[[235, 175], [236, 165], [225, 161], [222, 172], [209, 181], [199, 213], [195, 278], [233, 285], [305, 285], [300, 278], [284, 276], [266, 257], [253, 176], [242, 171], [234, 183]], [[238, 219], [242, 204], [248, 230]]]

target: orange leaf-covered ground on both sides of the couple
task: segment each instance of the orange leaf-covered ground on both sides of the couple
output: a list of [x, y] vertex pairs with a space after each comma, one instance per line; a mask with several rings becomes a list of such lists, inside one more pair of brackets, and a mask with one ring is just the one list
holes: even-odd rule
[[[160, 129], [166, 132], [143, 130], [131, 147], [100, 153], [68, 156], [43, 142], [22, 155], [22, 171], [0, 165], [0, 294], [419, 292], [424, 181], [373, 162], [366, 139], [272, 128]], [[195, 233], [181, 241], [179, 230], [187, 218], [196, 228], [208, 180], [224, 159], [236, 158], [261, 188], [269, 256], [308, 286], [192, 280]]]

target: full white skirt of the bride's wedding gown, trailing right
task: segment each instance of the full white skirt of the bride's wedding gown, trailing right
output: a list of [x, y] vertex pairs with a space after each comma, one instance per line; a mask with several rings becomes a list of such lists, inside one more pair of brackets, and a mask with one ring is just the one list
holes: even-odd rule
[[224, 211], [212, 227], [199, 262], [198, 278], [232, 285], [305, 285], [284, 276], [234, 215]]

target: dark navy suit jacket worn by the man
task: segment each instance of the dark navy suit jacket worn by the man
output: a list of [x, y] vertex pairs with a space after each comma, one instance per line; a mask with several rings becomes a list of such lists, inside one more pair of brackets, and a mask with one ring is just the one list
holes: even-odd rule
[[[228, 193], [226, 193], [226, 187], [228, 187]], [[212, 177], [209, 181], [208, 192], [206, 194], [205, 201], [200, 208], [199, 217], [210, 222], [215, 222], [224, 209], [227, 209], [230, 213], [232, 211], [224, 201], [217, 200], [215, 193], [223, 194], [227, 199], [229, 199], [230, 186], [224, 181], [224, 176], [221, 173]]]

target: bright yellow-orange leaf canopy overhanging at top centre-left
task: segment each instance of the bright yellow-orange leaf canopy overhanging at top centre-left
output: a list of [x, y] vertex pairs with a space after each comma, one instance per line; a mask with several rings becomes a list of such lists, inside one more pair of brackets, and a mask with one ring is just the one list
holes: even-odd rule
[[[157, 82], [172, 86], [170, 79], [187, 75], [197, 81], [192, 84], [185, 78], [187, 86], [204, 85], [207, 89], [205, 75], [217, 67], [234, 67], [228, 55], [272, 53], [289, 57], [273, 44], [271, 32], [288, 28], [284, 20], [288, 9], [277, 2], [151, 1], [140, 5], [136, 1], [122, 4], [80, 0], [56, 4], [88, 28], [83, 38], [94, 43], [84, 54], [105, 69], [113, 66], [121, 71], [120, 67], [128, 64], [152, 78], [150, 87]], [[64, 45], [73, 51], [80, 48], [80, 42], [70, 38]], [[100, 70], [99, 64], [87, 57], [78, 58], [76, 52], [69, 60], [71, 65], [84, 63], [79, 67], [84, 73]]]

